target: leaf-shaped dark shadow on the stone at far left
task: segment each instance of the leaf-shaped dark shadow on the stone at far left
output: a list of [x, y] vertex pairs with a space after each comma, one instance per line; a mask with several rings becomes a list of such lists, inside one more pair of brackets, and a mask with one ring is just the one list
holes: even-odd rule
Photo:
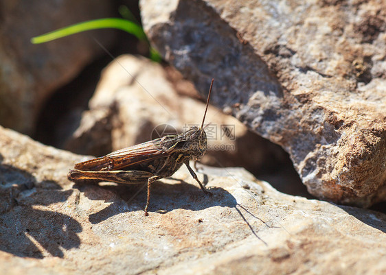
[[80, 224], [47, 207], [65, 204], [73, 190], [64, 191], [53, 181], [37, 182], [30, 173], [2, 164], [0, 183], [0, 250], [43, 259], [45, 252], [63, 257], [62, 248], [80, 246]]

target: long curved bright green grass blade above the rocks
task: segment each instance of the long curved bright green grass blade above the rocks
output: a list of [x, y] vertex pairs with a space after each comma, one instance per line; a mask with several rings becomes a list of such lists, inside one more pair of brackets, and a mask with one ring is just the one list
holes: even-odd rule
[[57, 29], [53, 32], [48, 32], [47, 34], [42, 34], [41, 36], [36, 36], [31, 39], [33, 44], [45, 43], [51, 40], [69, 36], [71, 34], [78, 34], [79, 32], [89, 31], [91, 29], [121, 29], [124, 32], [133, 34], [139, 40], [146, 40], [146, 34], [141, 26], [127, 21], [125, 19], [119, 18], [106, 18], [106, 19], [96, 19], [91, 21], [86, 21], [71, 25], [68, 27], [63, 27], [62, 29]]

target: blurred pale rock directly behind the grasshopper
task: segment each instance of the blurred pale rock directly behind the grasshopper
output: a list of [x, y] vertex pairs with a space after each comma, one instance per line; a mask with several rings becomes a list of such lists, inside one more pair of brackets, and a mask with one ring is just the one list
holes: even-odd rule
[[[80, 122], [73, 122], [78, 128], [63, 148], [103, 156], [165, 134], [183, 132], [190, 125], [201, 126], [205, 104], [182, 96], [181, 90], [190, 90], [182, 92], [189, 95], [196, 91], [193, 87], [176, 88], [183, 85], [168, 80], [171, 71], [146, 58], [116, 58], [104, 69], [89, 110], [82, 113]], [[220, 93], [216, 83], [213, 93]], [[286, 156], [280, 147], [247, 131], [234, 117], [210, 106], [205, 121], [211, 124], [207, 126], [208, 151], [201, 163], [243, 166], [254, 172], [284, 163]]]

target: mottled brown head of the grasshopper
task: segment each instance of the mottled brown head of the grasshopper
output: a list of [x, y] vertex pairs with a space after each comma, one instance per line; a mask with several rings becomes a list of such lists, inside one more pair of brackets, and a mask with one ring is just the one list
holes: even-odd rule
[[195, 159], [199, 160], [205, 154], [207, 150], [207, 134], [203, 128], [191, 127], [186, 132], [186, 145], [190, 155]]

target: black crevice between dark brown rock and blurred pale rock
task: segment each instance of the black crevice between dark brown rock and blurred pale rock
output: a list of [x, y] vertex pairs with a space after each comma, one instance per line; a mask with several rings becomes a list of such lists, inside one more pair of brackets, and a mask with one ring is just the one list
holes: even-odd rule
[[[140, 21], [137, 2], [115, 1], [117, 7], [115, 10], [118, 11], [118, 7], [122, 4], [126, 5]], [[118, 12], [116, 17], [121, 17]], [[139, 43], [134, 36], [113, 29], [111, 32], [118, 32], [117, 41], [113, 47], [107, 49], [112, 56], [117, 57], [124, 53], [148, 54], [147, 45]], [[100, 43], [103, 45], [103, 41]], [[112, 61], [109, 53], [104, 53], [91, 62], [74, 80], [52, 93], [38, 115], [36, 130], [32, 134], [33, 139], [46, 145], [61, 147], [66, 135], [72, 134], [73, 130], [78, 128], [82, 111], [89, 108], [89, 100], [100, 80], [100, 72]]]

